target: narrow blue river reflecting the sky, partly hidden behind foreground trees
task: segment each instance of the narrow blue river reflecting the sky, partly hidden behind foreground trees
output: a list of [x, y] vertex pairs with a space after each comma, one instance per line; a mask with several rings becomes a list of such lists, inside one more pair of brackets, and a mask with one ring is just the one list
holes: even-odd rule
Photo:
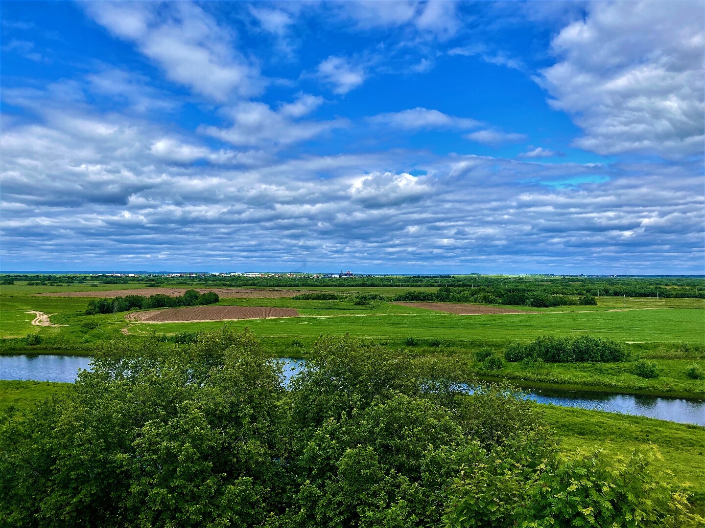
[[[280, 358], [284, 363], [284, 383], [288, 384], [304, 365], [303, 360]], [[87, 369], [90, 358], [80, 356], [0, 356], [0, 379], [34, 379], [48, 382], [74, 382], [78, 369]], [[563, 407], [606, 410], [610, 413], [646, 416], [671, 422], [705, 425], [705, 401], [657, 398], [630, 394], [604, 394], [560, 389], [528, 390], [538, 403]]]

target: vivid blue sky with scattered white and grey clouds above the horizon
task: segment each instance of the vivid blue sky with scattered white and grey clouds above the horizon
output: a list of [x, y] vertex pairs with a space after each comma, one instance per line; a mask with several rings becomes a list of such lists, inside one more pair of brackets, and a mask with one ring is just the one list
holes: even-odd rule
[[4, 1], [0, 269], [705, 273], [699, 1]]

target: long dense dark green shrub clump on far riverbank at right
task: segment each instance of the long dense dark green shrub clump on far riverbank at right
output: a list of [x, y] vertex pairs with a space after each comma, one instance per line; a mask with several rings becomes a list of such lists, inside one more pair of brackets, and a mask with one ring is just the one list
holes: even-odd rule
[[508, 361], [541, 359], [548, 363], [572, 363], [575, 361], [592, 361], [606, 363], [623, 361], [626, 352], [623, 346], [611, 339], [580, 336], [539, 337], [531, 343], [512, 343], [504, 351]]

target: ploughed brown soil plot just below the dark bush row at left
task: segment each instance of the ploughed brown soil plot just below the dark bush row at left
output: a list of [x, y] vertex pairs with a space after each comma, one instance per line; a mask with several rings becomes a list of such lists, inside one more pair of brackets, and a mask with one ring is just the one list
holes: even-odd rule
[[298, 317], [293, 308], [264, 308], [262, 306], [189, 306], [149, 312], [134, 312], [125, 319], [143, 322], [207, 322], [238, 319], [266, 319]]

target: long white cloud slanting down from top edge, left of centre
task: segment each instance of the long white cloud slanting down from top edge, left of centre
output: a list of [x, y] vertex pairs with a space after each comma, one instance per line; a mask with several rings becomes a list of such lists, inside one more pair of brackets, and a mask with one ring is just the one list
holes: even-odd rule
[[159, 6], [137, 2], [90, 2], [88, 13], [110, 32], [135, 42], [166, 76], [216, 101], [261, 91], [256, 65], [233, 47], [229, 30], [188, 2]]

